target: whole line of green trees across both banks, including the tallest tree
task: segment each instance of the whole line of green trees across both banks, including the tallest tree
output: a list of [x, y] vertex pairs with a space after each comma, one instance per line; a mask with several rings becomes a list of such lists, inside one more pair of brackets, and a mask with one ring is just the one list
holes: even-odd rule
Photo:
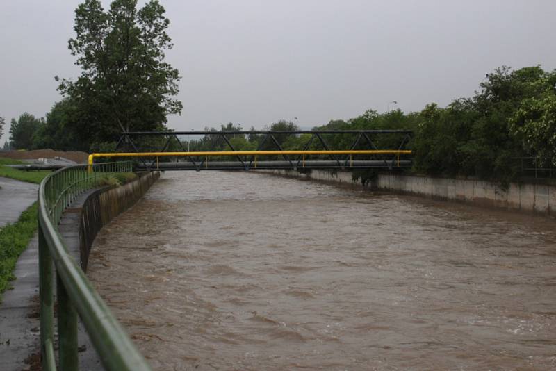
[[[81, 67], [75, 79], [56, 77], [63, 99], [44, 118], [28, 113], [11, 121], [9, 147], [106, 151], [122, 131], [167, 130], [167, 115], [181, 113], [175, 99], [180, 79], [165, 61], [173, 44], [166, 30], [170, 21], [163, 6], [150, 0], [114, 0], [104, 9], [99, 0], [85, 0], [75, 12], [75, 36], [70, 53]], [[520, 169], [515, 158], [538, 157], [556, 165], [556, 71], [540, 66], [500, 67], [486, 75], [472, 97], [455, 99], [441, 108], [427, 104], [418, 112], [367, 110], [352, 119], [332, 120], [316, 129], [409, 129], [414, 137], [412, 171], [439, 176], [477, 176], [509, 181]], [[3, 119], [1, 120], [3, 124]], [[2, 130], [0, 124], [0, 131]], [[218, 130], [238, 129], [238, 124]], [[269, 129], [295, 129], [283, 120]], [[206, 129], [201, 140], [184, 144], [190, 150], [224, 146]], [[299, 149], [303, 135], [279, 135], [285, 149]], [[257, 135], [236, 135], [236, 149], [265, 149]], [[345, 149], [347, 139], [332, 135], [330, 147]], [[394, 142], [377, 139], [377, 145]], [[316, 144], [315, 144], [316, 145]]]

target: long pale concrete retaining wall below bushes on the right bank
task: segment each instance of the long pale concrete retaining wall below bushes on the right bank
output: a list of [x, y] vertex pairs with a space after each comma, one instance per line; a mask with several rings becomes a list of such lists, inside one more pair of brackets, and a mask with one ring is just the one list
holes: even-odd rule
[[414, 195], [556, 217], [556, 186], [543, 184], [510, 183], [509, 187], [504, 189], [496, 183], [476, 179], [433, 178], [422, 175], [385, 173], [378, 174], [376, 179], [363, 184], [352, 179], [352, 173], [347, 171], [311, 170], [306, 173], [293, 170], [256, 171], [399, 195]]

